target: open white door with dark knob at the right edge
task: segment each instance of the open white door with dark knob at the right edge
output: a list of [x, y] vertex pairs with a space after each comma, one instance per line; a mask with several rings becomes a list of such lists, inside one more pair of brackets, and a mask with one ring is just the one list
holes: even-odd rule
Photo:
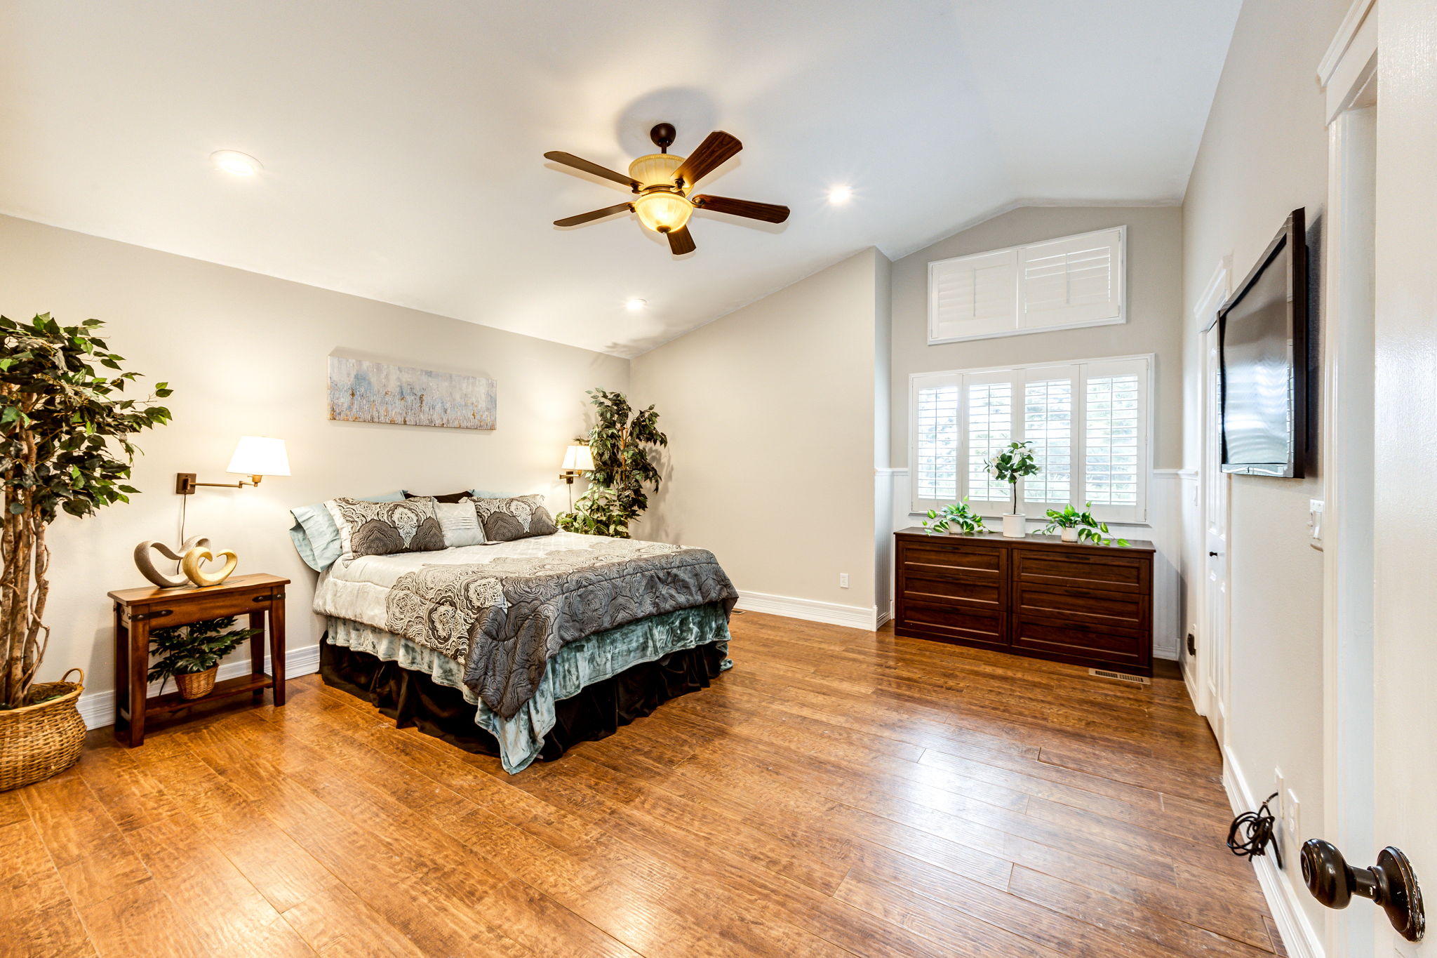
[[1372, 826], [1437, 903], [1437, 3], [1381, 0], [1378, 37]]

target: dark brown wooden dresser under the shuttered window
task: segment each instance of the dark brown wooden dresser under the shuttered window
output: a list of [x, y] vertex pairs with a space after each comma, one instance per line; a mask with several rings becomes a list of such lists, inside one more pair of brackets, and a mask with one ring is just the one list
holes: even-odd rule
[[1152, 543], [894, 536], [898, 635], [1152, 675]]

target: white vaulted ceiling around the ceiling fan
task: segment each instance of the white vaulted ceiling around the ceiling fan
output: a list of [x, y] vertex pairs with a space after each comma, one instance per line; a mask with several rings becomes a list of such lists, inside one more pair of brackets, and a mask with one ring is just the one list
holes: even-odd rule
[[[1239, 6], [10, 0], [0, 211], [637, 355], [1016, 201], [1177, 203]], [[697, 213], [677, 259], [632, 214], [550, 225], [627, 194], [545, 151], [625, 169], [660, 121], [739, 136], [703, 187], [789, 223]]]

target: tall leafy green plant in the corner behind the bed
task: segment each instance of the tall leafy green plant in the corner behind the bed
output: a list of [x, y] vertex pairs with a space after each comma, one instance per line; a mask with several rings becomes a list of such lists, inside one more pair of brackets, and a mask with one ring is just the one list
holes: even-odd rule
[[629, 523], [648, 508], [645, 485], [657, 491], [661, 483], [650, 452], [668, 445], [668, 437], [658, 431], [654, 406], [635, 412], [622, 392], [606, 389], [591, 389], [589, 398], [598, 411], [589, 429], [589, 490], [555, 521], [570, 533], [628, 539]]

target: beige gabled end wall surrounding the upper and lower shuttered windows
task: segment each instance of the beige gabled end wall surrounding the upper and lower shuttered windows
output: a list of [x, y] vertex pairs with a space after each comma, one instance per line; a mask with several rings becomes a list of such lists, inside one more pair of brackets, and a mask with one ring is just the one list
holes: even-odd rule
[[[1115, 225], [1128, 227], [1128, 322], [928, 345], [928, 263]], [[1183, 457], [1183, 211], [1177, 207], [1022, 207], [894, 263], [892, 465], [908, 465], [908, 376], [1006, 363], [1155, 353], [1154, 465]]]

